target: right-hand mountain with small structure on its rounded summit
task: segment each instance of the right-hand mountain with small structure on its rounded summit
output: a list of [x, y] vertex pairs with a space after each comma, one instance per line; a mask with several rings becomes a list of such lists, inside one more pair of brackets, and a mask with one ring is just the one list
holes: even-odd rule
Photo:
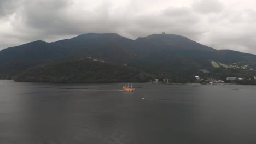
[[[178, 56], [200, 63], [203, 67], [211, 67], [212, 60], [220, 63], [256, 61], [255, 55], [231, 50], [216, 50], [180, 35], [153, 34], [138, 38], [135, 43], [139, 52], [144, 51], [144, 57], [148, 59], [156, 57], [156, 61], [163, 61], [163, 58], [172, 60], [173, 57]], [[207, 63], [202, 63], [202, 60]]]

